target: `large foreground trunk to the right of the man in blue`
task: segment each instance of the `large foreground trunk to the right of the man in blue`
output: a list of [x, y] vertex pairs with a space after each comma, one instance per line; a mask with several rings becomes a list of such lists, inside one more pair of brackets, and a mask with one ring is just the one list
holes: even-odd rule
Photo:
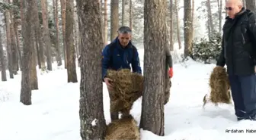
[[[168, 45], [166, 1], [144, 3], [144, 90], [140, 127], [155, 135], [165, 135], [165, 50]], [[152, 35], [152, 36], [148, 36]], [[162, 69], [159, 70], [159, 67]], [[155, 73], [155, 71], [158, 71]]]

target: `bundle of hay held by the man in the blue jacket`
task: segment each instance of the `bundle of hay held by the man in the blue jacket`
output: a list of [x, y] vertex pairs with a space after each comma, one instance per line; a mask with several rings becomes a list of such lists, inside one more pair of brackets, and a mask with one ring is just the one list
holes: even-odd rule
[[142, 96], [143, 76], [129, 69], [107, 70], [114, 88], [110, 91], [110, 112], [130, 114], [133, 102]]

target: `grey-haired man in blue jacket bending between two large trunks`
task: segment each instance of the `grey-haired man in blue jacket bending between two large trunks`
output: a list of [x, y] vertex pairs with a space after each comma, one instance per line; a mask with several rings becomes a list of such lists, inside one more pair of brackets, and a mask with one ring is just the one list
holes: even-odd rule
[[[107, 89], [112, 89], [111, 79], [107, 78], [107, 69], [120, 70], [131, 69], [133, 73], [142, 73], [139, 64], [139, 54], [132, 44], [132, 30], [128, 26], [122, 26], [117, 31], [118, 36], [113, 42], [106, 45], [102, 51], [102, 79], [107, 85]], [[130, 67], [131, 64], [131, 67]], [[111, 120], [118, 119], [118, 112], [110, 114]]]

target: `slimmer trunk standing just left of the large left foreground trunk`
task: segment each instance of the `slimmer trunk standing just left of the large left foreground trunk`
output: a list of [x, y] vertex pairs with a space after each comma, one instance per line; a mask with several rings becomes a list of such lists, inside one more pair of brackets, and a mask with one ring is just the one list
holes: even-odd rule
[[74, 1], [66, 0], [66, 57], [68, 82], [78, 82], [75, 68], [75, 46], [73, 45]]

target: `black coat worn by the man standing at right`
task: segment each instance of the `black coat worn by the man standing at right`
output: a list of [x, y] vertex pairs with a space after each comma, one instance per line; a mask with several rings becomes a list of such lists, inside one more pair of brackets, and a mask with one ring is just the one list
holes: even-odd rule
[[234, 19], [226, 17], [223, 26], [222, 51], [218, 66], [227, 65], [229, 75], [254, 73], [256, 45], [256, 14], [242, 8]]

